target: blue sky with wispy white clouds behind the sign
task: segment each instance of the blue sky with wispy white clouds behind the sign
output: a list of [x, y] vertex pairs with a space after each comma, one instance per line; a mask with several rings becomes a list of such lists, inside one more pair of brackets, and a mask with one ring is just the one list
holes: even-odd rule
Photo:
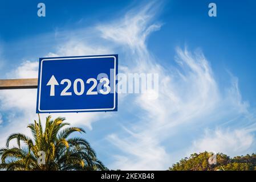
[[[1, 1], [1, 78], [37, 75], [43, 56], [101, 53], [119, 54], [119, 72], [160, 74], [156, 101], [131, 94], [116, 113], [64, 115], [86, 127], [108, 167], [166, 169], [194, 151], [255, 152], [255, 1], [213, 1], [217, 17], [208, 16], [212, 1], [43, 2], [39, 18], [39, 2]], [[12, 130], [29, 133], [34, 91], [0, 92], [1, 145]]]

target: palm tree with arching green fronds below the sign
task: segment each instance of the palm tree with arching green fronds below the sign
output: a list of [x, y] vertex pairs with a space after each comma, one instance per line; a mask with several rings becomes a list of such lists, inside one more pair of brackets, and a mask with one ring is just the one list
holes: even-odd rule
[[[65, 118], [46, 118], [45, 129], [34, 121], [29, 126], [34, 140], [24, 134], [10, 135], [6, 148], [0, 149], [0, 169], [6, 170], [104, 170], [97, 160], [95, 151], [87, 140], [79, 137], [68, 138], [79, 127], [65, 127]], [[60, 130], [62, 129], [62, 130]], [[9, 148], [11, 140], [16, 139], [18, 147]], [[23, 144], [21, 145], [21, 142]], [[44, 155], [44, 156], [43, 156]]]

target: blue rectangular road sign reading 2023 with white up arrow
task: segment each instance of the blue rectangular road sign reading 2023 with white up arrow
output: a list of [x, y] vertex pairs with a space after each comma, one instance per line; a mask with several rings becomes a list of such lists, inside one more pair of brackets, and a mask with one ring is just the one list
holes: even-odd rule
[[39, 59], [36, 113], [117, 111], [118, 55]]

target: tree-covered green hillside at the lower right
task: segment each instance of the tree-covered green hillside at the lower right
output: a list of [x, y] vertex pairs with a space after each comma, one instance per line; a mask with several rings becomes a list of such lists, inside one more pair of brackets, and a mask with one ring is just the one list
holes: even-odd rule
[[246, 156], [229, 156], [218, 153], [217, 164], [209, 164], [210, 154], [202, 152], [191, 154], [189, 158], [181, 159], [180, 162], [169, 167], [170, 171], [249, 171], [256, 170], [256, 155], [247, 154]]

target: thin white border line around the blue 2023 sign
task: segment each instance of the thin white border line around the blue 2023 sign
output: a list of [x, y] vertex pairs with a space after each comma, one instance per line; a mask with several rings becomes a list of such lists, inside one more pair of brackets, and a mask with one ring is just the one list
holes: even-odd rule
[[90, 58], [104, 58], [112, 57], [114, 59], [114, 81], [116, 81], [116, 57], [115, 56], [92, 56], [92, 57], [66, 57], [66, 58], [55, 58], [55, 59], [43, 59], [41, 61], [41, 70], [40, 70], [40, 85], [39, 85], [39, 97], [38, 97], [38, 110], [41, 112], [63, 112], [63, 111], [97, 111], [97, 110], [114, 110], [116, 108], [116, 86], [114, 84], [114, 105], [112, 108], [101, 108], [101, 109], [66, 109], [66, 110], [41, 110], [40, 109], [40, 100], [41, 100], [41, 84], [42, 84], [42, 70], [43, 70], [43, 61], [52, 61], [52, 60], [71, 60], [71, 59], [90, 59]]

